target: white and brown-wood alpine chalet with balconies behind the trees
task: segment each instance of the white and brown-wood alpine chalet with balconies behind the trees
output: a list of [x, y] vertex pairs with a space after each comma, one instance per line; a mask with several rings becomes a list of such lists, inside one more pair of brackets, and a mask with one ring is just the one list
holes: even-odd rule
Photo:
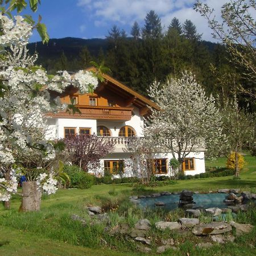
[[[88, 71], [96, 71], [94, 68]], [[104, 171], [114, 176], [120, 165], [123, 176], [134, 175], [129, 144], [134, 139], [143, 138], [143, 118], [150, 113], [151, 108], [159, 109], [154, 102], [130, 89], [121, 82], [103, 74], [105, 79], [93, 93], [79, 94], [76, 88], [70, 87], [60, 95], [61, 102], [70, 104], [71, 98], [81, 114], [59, 112], [49, 114], [49, 138], [61, 139], [76, 134], [96, 134], [104, 136], [109, 142], [114, 142], [114, 150], [101, 159], [101, 168], [97, 174]], [[204, 142], [200, 140], [196, 152], [190, 152], [183, 163], [185, 175], [195, 175], [205, 172]], [[156, 175], [170, 176], [169, 168], [172, 154], [159, 152], [154, 155], [154, 171]]]

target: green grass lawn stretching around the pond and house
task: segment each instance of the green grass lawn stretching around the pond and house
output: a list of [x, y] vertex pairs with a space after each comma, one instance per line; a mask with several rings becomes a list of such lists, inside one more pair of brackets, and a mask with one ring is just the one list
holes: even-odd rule
[[[247, 166], [241, 172], [241, 180], [233, 180], [232, 176], [179, 180], [176, 184], [148, 188], [147, 191], [181, 191], [182, 189], [214, 191], [219, 188], [241, 188], [243, 191], [255, 192], [256, 158], [245, 156], [245, 159]], [[214, 162], [206, 160], [207, 167], [225, 167], [225, 163], [225, 158]], [[105, 227], [101, 225], [84, 227], [80, 222], [70, 218], [72, 214], [85, 216], [84, 208], [89, 203], [104, 203], [109, 208], [121, 210], [122, 205], [129, 204], [127, 198], [138, 193], [139, 191], [133, 189], [131, 184], [102, 184], [83, 190], [61, 189], [56, 195], [42, 200], [40, 212], [32, 213], [19, 213], [20, 198], [15, 196], [11, 200], [11, 210], [5, 210], [3, 205], [0, 205], [0, 255], [138, 255], [133, 243], [108, 236]], [[122, 222], [122, 217], [118, 216], [117, 212], [118, 210], [112, 212], [113, 225]], [[129, 213], [126, 214], [129, 218]], [[131, 212], [135, 219], [139, 218], [139, 214], [142, 213], [137, 210]], [[256, 218], [256, 216], [251, 216], [253, 217]], [[157, 214], [154, 218], [159, 220]], [[255, 222], [255, 220], [251, 221]], [[233, 243], [225, 246], [217, 245], [210, 250], [195, 249], [195, 243], [201, 238], [196, 238], [197, 240], [192, 242], [180, 238], [180, 250], [171, 251], [171, 254], [255, 255], [255, 249], [247, 246], [248, 243], [253, 243], [255, 246], [255, 234], [254, 228], [252, 234], [242, 236], [235, 245]], [[110, 246], [101, 246], [100, 238], [104, 238]]]

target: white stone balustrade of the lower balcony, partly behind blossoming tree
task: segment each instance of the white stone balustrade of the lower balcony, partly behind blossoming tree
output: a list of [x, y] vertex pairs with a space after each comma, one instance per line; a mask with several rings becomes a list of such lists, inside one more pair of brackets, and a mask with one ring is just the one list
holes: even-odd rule
[[[144, 139], [144, 137], [104, 137], [109, 141], [109, 143], [114, 143], [113, 152], [133, 152], [133, 142], [138, 139]], [[164, 141], [159, 141], [159, 147], [157, 152], [168, 152], [167, 148], [171, 144], [171, 139], [165, 139]], [[172, 143], [174, 147], [177, 147], [175, 143]], [[164, 147], [166, 146], [166, 147]], [[205, 151], [205, 140], [204, 138], [191, 139], [188, 143], [189, 146], [193, 146], [192, 151]], [[157, 147], [156, 147], [157, 148]]]

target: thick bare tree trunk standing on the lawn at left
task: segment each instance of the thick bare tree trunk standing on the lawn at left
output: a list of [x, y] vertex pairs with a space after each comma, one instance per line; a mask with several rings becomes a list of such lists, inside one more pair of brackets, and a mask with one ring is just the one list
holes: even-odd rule
[[41, 191], [38, 190], [36, 181], [24, 181], [22, 183], [22, 205], [20, 210], [32, 212], [40, 210]]

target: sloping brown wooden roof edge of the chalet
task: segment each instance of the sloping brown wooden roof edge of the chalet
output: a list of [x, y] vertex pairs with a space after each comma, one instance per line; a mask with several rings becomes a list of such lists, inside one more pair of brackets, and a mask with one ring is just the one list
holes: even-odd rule
[[[95, 68], [95, 67], [86, 68], [85, 70], [86, 71], [97, 72], [97, 68]], [[122, 84], [122, 82], [119, 82], [118, 80], [114, 79], [113, 77], [111, 77], [111, 76], [109, 76], [105, 73], [102, 73], [102, 76], [105, 79], [105, 82], [110, 82], [111, 84], [113, 84], [117, 88], [122, 89], [123, 91], [125, 91], [130, 96], [134, 96], [134, 102], [133, 103], [138, 104], [141, 107], [151, 106], [151, 108], [160, 110], [159, 106], [156, 105], [155, 102], [151, 101], [149, 98], [143, 96], [142, 94], [139, 94], [135, 90], [131, 89], [129, 86], [127, 86], [125, 84]]]

